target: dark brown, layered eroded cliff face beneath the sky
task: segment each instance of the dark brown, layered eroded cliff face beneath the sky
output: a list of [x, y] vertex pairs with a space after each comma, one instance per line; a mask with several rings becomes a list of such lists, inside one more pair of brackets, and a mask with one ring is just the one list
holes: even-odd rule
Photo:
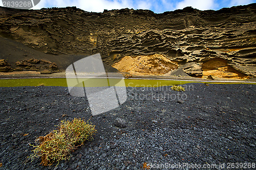
[[[0, 35], [48, 54], [100, 53], [109, 65], [126, 56], [159, 54], [179, 67], [185, 65], [182, 69], [194, 77], [205, 77], [207, 71], [218, 74], [219, 68], [227, 74], [236, 74], [233, 68], [255, 77], [255, 7], [250, 4], [218, 11], [187, 7], [163, 14], [133, 9], [90, 13], [77, 8], [0, 7]], [[204, 70], [202, 64], [212, 58], [221, 58], [228, 66]]]

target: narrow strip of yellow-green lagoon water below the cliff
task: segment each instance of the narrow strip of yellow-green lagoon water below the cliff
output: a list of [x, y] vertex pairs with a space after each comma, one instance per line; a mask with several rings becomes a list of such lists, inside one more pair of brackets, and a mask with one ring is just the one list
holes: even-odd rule
[[[102, 87], [160, 87], [182, 85], [187, 83], [204, 83], [203, 81], [183, 81], [164, 79], [101, 79], [101, 78], [68, 78], [69, 86]], [[214, 84], [256, 84], [255, 82], [206, 82]], [[26, 79], [0, 79], [0, 87], [19, 86], [61, 86], [68, 87], [66, 78], [26, 78]]]

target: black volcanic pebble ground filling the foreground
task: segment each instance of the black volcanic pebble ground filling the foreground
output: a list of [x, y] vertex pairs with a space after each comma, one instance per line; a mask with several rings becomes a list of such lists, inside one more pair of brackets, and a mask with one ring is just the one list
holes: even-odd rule
[[[71, 96], [66, 87], [1, 87], [0, 169], [255, 163], [256, 85], [193, 83], [185, 87], [182, 93], [170, 87], [127, 87], [123, 105], [93, 117], [87, 99]], [[62, 114], [68, 116], [62, 118]], [[94, 140], [57, 166], [41, 166], [40, 158], [31, 162], [29, 143], [55, 129], [60, 120], [75, 117], [96, 125]], [[117, 117], [126, 120], [126, 128], [113, 125]]]

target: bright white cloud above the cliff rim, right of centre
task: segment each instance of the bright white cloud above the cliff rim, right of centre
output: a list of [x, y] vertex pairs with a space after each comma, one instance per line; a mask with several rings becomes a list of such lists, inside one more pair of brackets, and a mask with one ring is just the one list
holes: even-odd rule
[[214, 0], [183, 0], [177, 4], [176, 9], [183, 9], [189, 6], [199, 10], [208, 10], [214, 9], [217, 5]]

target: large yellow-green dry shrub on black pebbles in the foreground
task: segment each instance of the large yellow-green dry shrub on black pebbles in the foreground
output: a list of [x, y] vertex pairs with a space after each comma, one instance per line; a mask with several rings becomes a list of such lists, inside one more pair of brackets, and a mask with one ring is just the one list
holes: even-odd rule
[[53, 130], [46, 136], [36, 139], [33, 146], [33, 155], [30, 157], [41, 157], [40, 164], [47, 166], [54, 162], [70, 158], [71, 152], [75, 151], [86, 140], [92, 140], [96, 133], [95, 125], [84, 122], [83, 119], [74, 118], [72, 121], [62, 120], [57, 130]]

